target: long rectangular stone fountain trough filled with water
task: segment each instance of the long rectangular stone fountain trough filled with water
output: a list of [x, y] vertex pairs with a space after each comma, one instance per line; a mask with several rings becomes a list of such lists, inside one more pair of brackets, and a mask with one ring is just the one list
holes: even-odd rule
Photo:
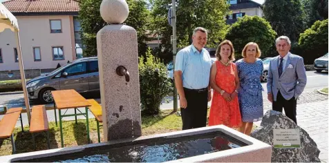
[[[126, 153], [126, 154], [125, 154]], [[223, 125], [0, 157], [1, 162], [270, 162], [272, 147]], [[123, 157], [122, 157], [123, 156]], [[84, 161], [85, 160], [85, 161]]]

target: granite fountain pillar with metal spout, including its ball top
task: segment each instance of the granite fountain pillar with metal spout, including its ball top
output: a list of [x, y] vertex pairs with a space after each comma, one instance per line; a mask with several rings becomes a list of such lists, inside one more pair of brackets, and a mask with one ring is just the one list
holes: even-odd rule
[[134, 28], [122, 24], [129, 15], [124, 0], [103, 0], [97, 32], [104, 141], [142, 135], [138, 42]]

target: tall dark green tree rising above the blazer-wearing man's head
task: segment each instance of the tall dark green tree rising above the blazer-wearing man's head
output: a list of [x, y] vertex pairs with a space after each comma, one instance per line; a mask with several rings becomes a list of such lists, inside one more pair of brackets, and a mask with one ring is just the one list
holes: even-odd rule
[[288, 36], [293, 43], [305, 30], [306, 15], [300, 0], [265, 0], [263, 13], [276, 33]]

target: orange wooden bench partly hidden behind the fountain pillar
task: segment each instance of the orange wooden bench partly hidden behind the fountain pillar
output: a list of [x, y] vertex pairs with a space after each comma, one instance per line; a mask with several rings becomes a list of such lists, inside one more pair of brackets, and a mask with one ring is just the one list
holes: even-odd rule
[[98, 136], [98, 142], [100, 142], [100, 123], [103, 123], [103, 118], [102, 118], [102, 106], [98, 104], [98, 102], [95, 101], [95, 99], [87, 99], [87, 101], [91, 104], [89, 106], [89, 111], [93, 113], [95, 116], [96, 122], [97, 122], [97, 136]]

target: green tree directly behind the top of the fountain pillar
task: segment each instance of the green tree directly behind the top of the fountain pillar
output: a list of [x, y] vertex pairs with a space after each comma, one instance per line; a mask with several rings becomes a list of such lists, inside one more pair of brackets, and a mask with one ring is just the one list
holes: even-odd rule
[[[127, 26], [135, 28], [138, 34], [138, 55], [147, 50], [147, 27], [149, 26], [149, 10], [144, 0], [126, 0], [129, 16], [124, 21]], [[80, 0], [79, 20], [82, 27], [82, 42], [85, 46], [84, 56], [97, 56], [96, 35], [107, 23], [100, 16], [102, 0]]]

